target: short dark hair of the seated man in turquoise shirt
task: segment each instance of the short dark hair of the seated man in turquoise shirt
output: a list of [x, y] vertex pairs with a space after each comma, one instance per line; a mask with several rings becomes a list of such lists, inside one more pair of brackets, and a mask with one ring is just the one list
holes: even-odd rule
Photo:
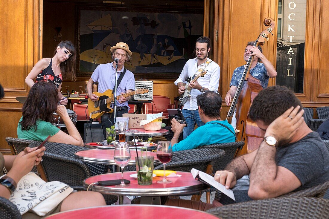
[[220, 108], [222, 106], [222, 97], [219, 93], [205, 91], [196, 97], [196, 102], [206, 116], [211, 118], [220, 117]]

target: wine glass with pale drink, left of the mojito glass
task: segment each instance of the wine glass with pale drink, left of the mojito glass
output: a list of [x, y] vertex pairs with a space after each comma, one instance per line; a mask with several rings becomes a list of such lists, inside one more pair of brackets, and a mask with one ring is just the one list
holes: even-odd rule
[[121, 167], [121, 184], [116, 185], [116, 187], [129, 186], [126, 185], [123, 181], [123, 168], [129, 163], [129, 161], [130, 161], [129, 145], [125, 142], [116, 144], [114, 149], [114, 162], [116, 163], [116, 165]]

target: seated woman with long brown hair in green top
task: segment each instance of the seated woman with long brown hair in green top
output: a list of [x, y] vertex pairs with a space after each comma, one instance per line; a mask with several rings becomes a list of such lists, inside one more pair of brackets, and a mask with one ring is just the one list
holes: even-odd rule
[[[43, 141], [50, 135], [50, 142], [84, 146], [65, 106], [57, 104], [57, 98], [54, 84], [40, 81], [32, 86], [23, 105], [23, 116], [18, 123], [18, 138]], [[63, 119], [68, 134], [51, 124], [54, 111]]]

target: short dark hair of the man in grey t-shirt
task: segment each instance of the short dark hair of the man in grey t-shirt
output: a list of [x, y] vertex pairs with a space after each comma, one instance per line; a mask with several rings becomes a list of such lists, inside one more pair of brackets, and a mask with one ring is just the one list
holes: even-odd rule
[[249, 109], [249, 117], [269, 125], [287, 109], [298, 105], [300, 110], [303, 109], [302, 103], [288, 87], [271, 86], [261, 90], [255, 97]]

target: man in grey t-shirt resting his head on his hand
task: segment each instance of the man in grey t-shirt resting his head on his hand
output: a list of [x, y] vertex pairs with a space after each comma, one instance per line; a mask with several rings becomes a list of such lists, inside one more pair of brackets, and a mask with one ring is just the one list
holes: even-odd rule
[[[287, 87], [272, 86], [259, 92], [249, 116], [263, 131], [264, 141], [215, 174], [216, 181], [233, 188], [236, 202], [278, 197], [329, 180], [328, 150], [308, 128], [303, 113], [300, 101]], [[244, 175], [250, 176], [250, 185], [242, 179], [247, 184], [243, 188], [238, 179]], [[220, 202], [233, 200], [224, 196]]]

